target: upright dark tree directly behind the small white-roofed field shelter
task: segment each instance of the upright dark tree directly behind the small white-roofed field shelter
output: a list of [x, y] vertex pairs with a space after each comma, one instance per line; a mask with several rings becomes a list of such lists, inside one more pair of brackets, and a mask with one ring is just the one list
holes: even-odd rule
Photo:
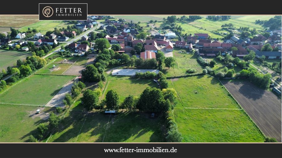
[[109, 110], [119, 109], [119, 96], [116, 91], [110, 90], [106, 94], [106, 105]]

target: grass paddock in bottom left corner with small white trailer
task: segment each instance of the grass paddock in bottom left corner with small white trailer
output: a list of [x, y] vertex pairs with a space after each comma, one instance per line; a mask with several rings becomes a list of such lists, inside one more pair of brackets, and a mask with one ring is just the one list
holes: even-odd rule
[[[0, 104], [0, 142], [24, 142], [29, 135], [37, 136], [37, 126], [47, 120], [33, 116], [36, 106], [18, 106]], [[54, 109], [45, 107], [42, 112]]]

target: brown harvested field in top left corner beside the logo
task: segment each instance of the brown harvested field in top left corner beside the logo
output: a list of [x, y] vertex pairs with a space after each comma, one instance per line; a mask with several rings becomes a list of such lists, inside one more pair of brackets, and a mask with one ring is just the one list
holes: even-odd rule
[[38, 15], [0, 15], [0, 27], [8, 27], [8, 31], [10, 27], [24, 27], [35, 22], [39, 22]]

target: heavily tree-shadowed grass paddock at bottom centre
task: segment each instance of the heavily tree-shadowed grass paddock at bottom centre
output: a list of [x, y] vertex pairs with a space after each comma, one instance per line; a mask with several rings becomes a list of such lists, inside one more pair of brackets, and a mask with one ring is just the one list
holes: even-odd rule
[[160, 142], [164, 139], [160, 119], [150, 119], [149, 114], [105, 115], [103, 111], [86, 114], [76, 108], [63, 118], [49, 142]]

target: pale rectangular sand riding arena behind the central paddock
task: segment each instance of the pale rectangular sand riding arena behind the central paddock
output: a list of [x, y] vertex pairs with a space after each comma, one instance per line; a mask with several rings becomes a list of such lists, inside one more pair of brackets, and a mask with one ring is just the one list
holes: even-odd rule
[[114, 69], [112, 71], [112, 75], [115, 76], [134, 76], [136, 72], [155, 72], [156, 74], [159, 73], [159, 70], [152, 70], [152, 69]]

